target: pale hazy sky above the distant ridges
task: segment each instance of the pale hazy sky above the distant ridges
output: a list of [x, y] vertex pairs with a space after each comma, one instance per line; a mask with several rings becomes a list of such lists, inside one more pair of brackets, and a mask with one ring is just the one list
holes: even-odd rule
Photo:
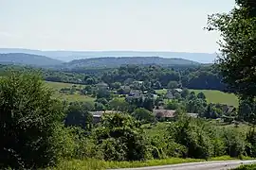
[[207, 52], [207, 16], [234, 0], [0, 0], [0, 47]]

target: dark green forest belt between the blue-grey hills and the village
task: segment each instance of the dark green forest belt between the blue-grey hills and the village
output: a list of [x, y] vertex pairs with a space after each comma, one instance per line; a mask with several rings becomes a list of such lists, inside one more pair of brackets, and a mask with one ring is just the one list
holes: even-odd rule
[[174, 66], [161, 67], [158, 65], [125, 65], [119, 68], [94, 69], [36, 69], [32, 67], [0, 65], [0, 70], [34, 70], [42, 72], [48, 81], [69, 82], [92, 85], [105, 82], [111, 85], [115, 82], [125, 85], [126, 81], [145, 81], [149, 88], [168, 88], [170, 81], [175, 81], [177, 87], [204, 90], [227, 90], [222, 83], [221, 76], [212, 65], [208, 66]]

